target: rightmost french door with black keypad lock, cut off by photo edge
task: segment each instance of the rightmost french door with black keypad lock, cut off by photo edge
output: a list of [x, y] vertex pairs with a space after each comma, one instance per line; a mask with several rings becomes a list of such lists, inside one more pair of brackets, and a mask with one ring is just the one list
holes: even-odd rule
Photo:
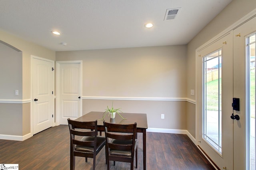
[[[250, 82], [250, 78], [255, 79], [255, 36], [252, 35], [255, 33], [256, 17], [236, 28], [233, 35], [234, 97], [240, 98], [240, 111], [234, 110], [234, 115], [240, 116], [240, 120], [234, 120], [234, 146], [236, 146], [234, 148], [234, 170], [255, 170], [255, 80], [254, 84]], [[252, 37], [251, 45], [254, 43], [254, 48], [248, 46], [250, 42], [247, 40], [250, 36]], [[250, 90], [251, 87], [254, 92]], [[253, 111], [254, 115], [250, 115]], [[250, 123], [254, 124], [254, 129], [250, 129]], [[254, 131], [251, 141], [250, 130]], [[250, 145], [251, 142], [254, 144]], [[254, 150], [250, 158], [251, 147]], [[251, 164], [253, 162], [254, 165]]]

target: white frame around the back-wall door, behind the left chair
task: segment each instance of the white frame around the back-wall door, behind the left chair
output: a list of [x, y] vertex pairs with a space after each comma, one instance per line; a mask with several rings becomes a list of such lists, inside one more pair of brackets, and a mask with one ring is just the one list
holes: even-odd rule
[[[80, 64], [80, 92], [82, 93], [82, 60], [56, 61], [56, 119], [55, 124], [60, 125], [60, 64]], [[80, 115], [82, 116], [82, 95], [80, 100]]]

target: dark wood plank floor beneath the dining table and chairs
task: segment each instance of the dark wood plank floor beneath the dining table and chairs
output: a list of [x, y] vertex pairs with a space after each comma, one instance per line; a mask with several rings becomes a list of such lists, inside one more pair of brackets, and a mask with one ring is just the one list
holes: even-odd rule
[[[0, 140], [0, 164], [19, 164], [19, 170], [69, 170], [68, 126], [46, 129], [20, 142]], [[143, 169], [142, 134], [138, 133], [138, 169]], [[104, 148], [96, 156], [96, 170], [106, 170]], [[129, 170], [116, 162], [111, 170]], [[136, 170], [136, 168], [134, 168]], [[214, 170], [198, 148], [183, 134], [147, 132], [148, 170]], [[76, 170], [92, 170], [92, 159], [76, 157]]]

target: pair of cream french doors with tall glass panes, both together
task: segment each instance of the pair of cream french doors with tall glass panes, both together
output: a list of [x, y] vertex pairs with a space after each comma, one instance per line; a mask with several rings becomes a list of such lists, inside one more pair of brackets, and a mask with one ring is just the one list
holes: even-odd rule
[[220, 169], [256, 170], [255, 23], [198, 51], [198, 146]]

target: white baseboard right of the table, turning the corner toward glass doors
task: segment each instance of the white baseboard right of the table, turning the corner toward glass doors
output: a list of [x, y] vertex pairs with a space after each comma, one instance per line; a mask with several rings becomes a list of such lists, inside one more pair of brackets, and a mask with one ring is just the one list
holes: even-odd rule
[[172, 134], [186, 134], [196, 145], [196, 139], [188, 132], [188, 130], [179, 129], [161, 129], [161, 128], [148, 128], [147, 132], [158, 132], [158, 133], [172, 133]]

